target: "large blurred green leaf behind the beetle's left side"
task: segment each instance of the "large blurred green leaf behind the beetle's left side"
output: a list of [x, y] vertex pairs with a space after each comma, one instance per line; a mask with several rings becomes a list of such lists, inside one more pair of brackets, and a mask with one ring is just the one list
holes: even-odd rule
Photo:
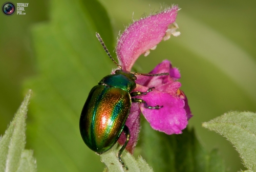
[[113, 51], [110, 19], [97, 1], [49, 3], [50, 22], [32, 29], [38, 75], [25, 83], [35, 95], [30, 146], [38, 171], [102, 171], [100, 157], [80, 136], [79, 118], [90, 90], [114, 68], [95, 36]]

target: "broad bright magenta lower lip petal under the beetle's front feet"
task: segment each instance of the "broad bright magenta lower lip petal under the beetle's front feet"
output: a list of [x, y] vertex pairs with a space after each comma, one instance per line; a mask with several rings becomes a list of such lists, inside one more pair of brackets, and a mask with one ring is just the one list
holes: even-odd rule
[[[146, 91], [148, 88], [139, 85], [137, 89]], [[152, 110], [140, 104], [140, 110], [152, 128], [168, 135], [182, 133], [187, 125], [187, 116], [183, 108], [185, 102], [179, 96], [154, 90], [137, 98], [143, 99], [149, 106], [163, 105], [159, 110]]]

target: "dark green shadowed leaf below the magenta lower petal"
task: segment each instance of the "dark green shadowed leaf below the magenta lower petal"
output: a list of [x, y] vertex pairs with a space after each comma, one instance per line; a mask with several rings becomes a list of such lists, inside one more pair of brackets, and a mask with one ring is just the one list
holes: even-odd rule
[[143, 120], [140, 144], [142, 156], [155, 171], [225, 171], [217, 150], [208, 153], [199, 143], [194, 130], [180, 135], [154, 131]]

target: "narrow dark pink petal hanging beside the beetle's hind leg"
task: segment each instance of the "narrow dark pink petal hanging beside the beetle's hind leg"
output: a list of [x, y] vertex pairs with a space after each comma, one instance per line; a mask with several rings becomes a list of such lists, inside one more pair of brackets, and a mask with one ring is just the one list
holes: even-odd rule
[[[133, 154], [135, 146], [138, 141], [139, 129], [140, 129], [140, 108], [138, 103], [132, 103], [130, 114], [125, 122], [125, 125], [130, 130], [130, 139], [125, 149]], [[123, 145], [126, 141], [124, 133], [121, 134], [118, 139], [118, 143]]]

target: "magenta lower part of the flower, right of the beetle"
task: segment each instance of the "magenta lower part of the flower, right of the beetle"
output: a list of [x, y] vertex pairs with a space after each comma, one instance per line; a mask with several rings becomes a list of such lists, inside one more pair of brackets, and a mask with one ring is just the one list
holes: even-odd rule
[[[137, 85], [133, 90], [134, 92], [146, 92], [152, 87], [155, 89], [146, 95], [136, 96], [135, 98], [144, 100], [149, 106], [163, 105], [163, 107], [159, 110], [152, 110], [145, 108], [144, 104], [132, 103], [131, 114], [125, 123], [130, 128], [130, 132], [133, 133], [129, 140], [130, 144], [128, 144], [126, 148], [130, 153], [134, 152], [138, 139], [138, 114], [140, 112], [142, 112], [145, 119], [154, 130], [164, 132], [168, 135], [181, 134], [189, 118], [193, 116], [190, 112], [187, 98], [184, 92], [180, 90], [181, 83], [176, 81], [180, 78], [178, 69], [173, 68], [170, 61], [163, 60], [163, 62], [157, 65], [150, 73], [166, 72], [169, 72], [169, 75], [158, 77], [137, 76], [137, 80], [135, 81]], [[122, 134], [118, 142], [124, 144], [125, 139], [125, 136]]]

